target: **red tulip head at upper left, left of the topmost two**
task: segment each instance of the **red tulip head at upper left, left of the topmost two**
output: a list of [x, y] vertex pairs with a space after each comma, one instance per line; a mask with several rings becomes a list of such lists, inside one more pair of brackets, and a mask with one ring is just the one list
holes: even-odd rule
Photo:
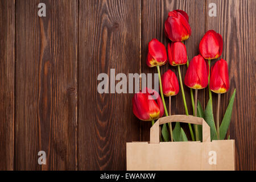
[[166, 47], [157, 39], [152, 39], [148, 43], [147, 65], [148, 67], [155, 67], [157, 65], [164, 65], [167, 62]]

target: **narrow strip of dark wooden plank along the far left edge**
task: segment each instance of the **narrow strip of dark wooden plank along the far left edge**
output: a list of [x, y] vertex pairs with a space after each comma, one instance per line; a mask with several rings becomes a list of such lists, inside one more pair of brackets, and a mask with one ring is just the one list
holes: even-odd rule
[[14, 0], [0, 2], [0, 170], [14, 167]]

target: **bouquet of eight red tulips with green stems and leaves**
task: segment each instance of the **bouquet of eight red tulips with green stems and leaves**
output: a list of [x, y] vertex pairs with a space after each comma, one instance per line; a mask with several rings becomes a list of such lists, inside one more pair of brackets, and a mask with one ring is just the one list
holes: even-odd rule
[[[180, 67], [187, 64], [184, 84], [190, 88], [193, 115], [205, 119], [210, 126], [210, 137], [212, 140], [225, 139], [232, 115], [236, 89], [234, 89], [234, 93], [230, 98], [228, 108], [220, 125], [220, 97], [222, 93], [226, 93], [229, 90], [228, 64], [225, 60], [221, 59], [216, 61], [214, 66], [210, 68], [210, 61], [217, 59], [222, 54], [223, 41], [221, 35], [213, 30], [206, 32], [199, 44], [200, 54], [193, 57], [189, 63], [187, 49], [183, 43], [191, 35], [187, 13], [182, 10], [170, 11], [164, 23], [164, 32], [167, 38], [171, 40], [167, 47], [168, 60], [171, 66], [177, 67], [179, 81], [171, 69], [168, 69], [162, 76], [160, 75], [160, 66], [167, 63], [167, 51], [162, 43], [157, 39], [152, 39], [148, 43], [146, 64], [148, 67], [157, 68], [161, 98], [155, 90], [143, 88], [141, 92], [135, 93], [133, 97], [133, 113], [139, 119], [151, 121], [152, 125], [154, 125], [155, 119], [162, 117], [163, 114], [166, 116], [171, 114], [171, 97], [178, 94], [179, 90], [181, 90], [185, 113], [189, 115], [180, 71]], [[208, 60], [208, 63], [205, 60]], [[209, 101], [207, 107], [203, 110], [200, 101], [197, 101], [197, 92], [199, 89], [204, 89], [207, 86], [209, 89]], [[195, 90], [195, 100], [193, 90]], [[213, 117], [212, 92], [218, 94], [216, 124]], [[168, 111], [164, 96], [169, 98]], [[188, 127], [192, 140], [202, 141], [202, 127], [197, 125], [192, 127], [190, 123]], [[168, 127], [166, 124], [162, 126], [160, 140], [177, 142], [187, 141], [188, 139], [184, 130], [180, 127], [180, 123], [176, 122], [174, 130], [172, 130], [171, 123], [168, 123]]]

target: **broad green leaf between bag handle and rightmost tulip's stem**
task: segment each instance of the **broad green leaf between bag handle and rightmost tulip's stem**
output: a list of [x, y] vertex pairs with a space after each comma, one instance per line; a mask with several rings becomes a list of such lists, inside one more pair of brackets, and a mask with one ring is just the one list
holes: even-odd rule
[[213, 118], [212, 101], [210, 99], [208, 101], [207, 107], [205, 108], [204, 120], [210, 126], [210, 140], [215, 139], [217, 136], [217, 131], [216, 131], [214, 118]]

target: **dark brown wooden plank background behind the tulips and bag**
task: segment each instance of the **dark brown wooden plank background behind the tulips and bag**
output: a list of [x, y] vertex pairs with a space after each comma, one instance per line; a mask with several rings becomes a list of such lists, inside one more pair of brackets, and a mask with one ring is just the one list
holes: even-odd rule
[[[40, 2], [46, 3], [43, 18]], [[210, 2], [216, 17], [208, 16]], [[256, 170], [254, 0], [1, 0], [0, 169], [126, 169], [126, 142], [148, 140], [151, 123], [133, 115], [133, 94], [99, 94], [97, 76], [110, 68], [156, 73], [146, 65], [147, 44], [157, 38], [167, 46], [164, 20], [175, 9], [189, 16], [189, 60], [207, 30], [222, 35], [220, 58], [228, 61], [231, 86], [220, 115], [236, 88], [229, 130], [236, 168]], [[177, 73], [168, 64], [161, 70], [168, 68]], [[192, 114], [187, 87], [185, 94]], [[206, 89], [199, 100], [205, 107]], [[216, 113], [215, 94], [213, 100]], [[172, 114], [185, 114], [181, 93], [172, 99]], [[38, 164], [40, 150], [46, 165]]]

